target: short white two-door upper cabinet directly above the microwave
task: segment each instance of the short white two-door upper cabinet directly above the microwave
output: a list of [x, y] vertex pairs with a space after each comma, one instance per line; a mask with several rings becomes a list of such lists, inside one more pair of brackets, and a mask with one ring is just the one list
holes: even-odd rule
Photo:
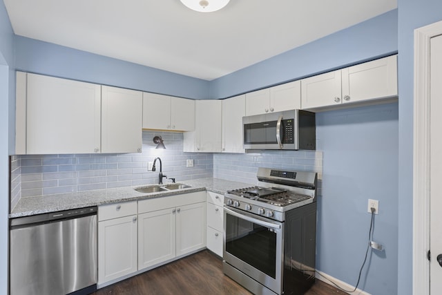
[[246, 115], [300, 108], [300, 81], [289, 82], [246, 94]]

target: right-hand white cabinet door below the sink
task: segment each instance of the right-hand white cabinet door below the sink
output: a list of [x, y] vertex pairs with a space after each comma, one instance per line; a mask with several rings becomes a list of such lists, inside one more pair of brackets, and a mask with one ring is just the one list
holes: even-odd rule
[[206, 247], [206, 202], [177, 207], [177, 256]]

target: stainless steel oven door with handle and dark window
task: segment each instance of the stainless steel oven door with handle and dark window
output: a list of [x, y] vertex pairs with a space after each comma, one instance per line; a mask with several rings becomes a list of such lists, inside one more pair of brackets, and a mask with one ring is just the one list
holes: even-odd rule
[[223, 259], [281, 294], [283, 233], [283, 222], [224, 206]]

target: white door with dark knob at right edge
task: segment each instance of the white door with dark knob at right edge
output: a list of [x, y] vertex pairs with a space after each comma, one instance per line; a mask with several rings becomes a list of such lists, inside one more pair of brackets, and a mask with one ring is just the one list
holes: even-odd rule
[[442, 254], [442, 36], [432, 38], [430, 44], [430, 294], [433, 295], [441, 294], [442, 290], [442, 265], [437, 259]]

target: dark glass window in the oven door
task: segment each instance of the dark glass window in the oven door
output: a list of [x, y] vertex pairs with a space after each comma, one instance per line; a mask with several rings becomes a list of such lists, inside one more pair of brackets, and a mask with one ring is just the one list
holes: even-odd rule
[[276, 278], [276, 233], [226, 214], [226, 251]]

